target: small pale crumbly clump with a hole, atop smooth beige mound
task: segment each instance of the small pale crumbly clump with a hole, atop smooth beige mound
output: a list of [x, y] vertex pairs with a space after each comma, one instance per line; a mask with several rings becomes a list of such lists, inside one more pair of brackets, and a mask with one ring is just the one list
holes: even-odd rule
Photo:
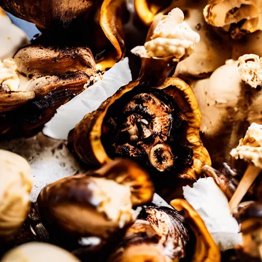
[[242, 80], [252, 88], [262, 84], [262, 58], [247, 54], [238, 58], [238, 71]]

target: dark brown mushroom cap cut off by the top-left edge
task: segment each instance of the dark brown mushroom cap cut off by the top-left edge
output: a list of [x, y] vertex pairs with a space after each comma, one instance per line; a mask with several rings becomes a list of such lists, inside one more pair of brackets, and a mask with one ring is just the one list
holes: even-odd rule
[[[1, 6], [16, 17], [35, 24], [39, 30], [61, 31], [86, 21], [102, 0], [1, 0]], [[79, 25], [79, 24], [78, 24]]]

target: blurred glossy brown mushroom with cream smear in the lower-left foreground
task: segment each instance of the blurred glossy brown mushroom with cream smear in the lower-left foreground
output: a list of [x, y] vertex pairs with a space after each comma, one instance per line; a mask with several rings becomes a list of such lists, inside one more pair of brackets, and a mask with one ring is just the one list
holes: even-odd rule
[[129, 160], [58, 180], [37, 198], [40, 219], [74, 236], [106, 239], [134, 221], [133, 206], [151, 201], [148, 174]]

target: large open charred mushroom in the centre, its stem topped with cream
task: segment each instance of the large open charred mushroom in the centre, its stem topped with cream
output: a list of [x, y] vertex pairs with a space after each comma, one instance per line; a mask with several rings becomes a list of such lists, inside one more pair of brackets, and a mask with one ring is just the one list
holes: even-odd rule
[[[184, 30], [182, 21], [183, 13], [179, 9], [174, 9], [160, 22], [156, 20], [147, 36], [150, 43], [147, 41], [145, 47], [136, 49], [142, 56], [139, 79], [120, 88], [76, 125], [71, 140], [76, 154], [84, 162], [103, 164], [119, 156], [134, 159], [151, 171], [158, 188], [167, 184], [168, 178], [193, 181], [201, 167], [209, 163], [199, 137], [201, 115], [190, 86], [179, 78], [165, 80], [177, 63], [173, 60], [178, 61], [192, 48], [195, 33], [190, 36], [190, 28], [187, 29], [187, 47], [183, 47], [180, 35], [178, 38], [182, 38], [177, 41], [171, 39], [178, 46], [162, 47], [168, 54], [162, 52], [161, 57], [151, 57], [150, 53], [155, 52], [160, 30], [165, 30], [161, 23], [168, 25], [168, 29], [172, 22], [177, 25], [174, 32], [164, 31], [176, 39], [180, 27]], [[162, 35], [162, 45], [168, 45], [164, 37]], [[171, 49], [176, 56], [170, 56]]]

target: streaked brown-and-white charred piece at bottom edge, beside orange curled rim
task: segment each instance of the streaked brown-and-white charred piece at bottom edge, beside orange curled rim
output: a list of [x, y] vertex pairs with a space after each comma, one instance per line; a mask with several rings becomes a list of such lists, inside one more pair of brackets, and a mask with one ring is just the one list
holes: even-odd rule
[[184, 217], [168, 207], [145, 207], [110, 261], [177, 261], [194, 242]]

